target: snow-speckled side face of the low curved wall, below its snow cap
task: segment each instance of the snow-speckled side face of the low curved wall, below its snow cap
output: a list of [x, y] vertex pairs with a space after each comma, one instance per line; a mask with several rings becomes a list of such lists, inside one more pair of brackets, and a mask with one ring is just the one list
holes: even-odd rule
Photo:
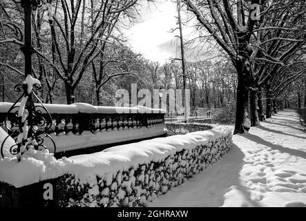
[[204, 146], [169, 155], [162, 162], [140, 164], [111, 177], [97, 177], [97, 186], [79, 184], [73, 175], [64, 175], [57, 185], [57, 206], [147, 206], [158, 195], [219, 160], [231, 146], [229, 134]]

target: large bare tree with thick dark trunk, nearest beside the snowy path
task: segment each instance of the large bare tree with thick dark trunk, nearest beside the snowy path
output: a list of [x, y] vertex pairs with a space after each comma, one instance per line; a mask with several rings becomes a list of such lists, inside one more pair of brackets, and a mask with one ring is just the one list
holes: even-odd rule
[[187, 10], [195, 15], [199, 28], [204, 28], [211, 37], [227, 52], [238, 73], [236, 124], [234, 133], [244, 133], [247, 119], [249, 87], [254, 80], [251, 73], [250, 46], [251, 34], [256, 19], [253, 19], [251, 5], [259, 0], [242, 3], [236, 1], [192, 1], [184, 0]]

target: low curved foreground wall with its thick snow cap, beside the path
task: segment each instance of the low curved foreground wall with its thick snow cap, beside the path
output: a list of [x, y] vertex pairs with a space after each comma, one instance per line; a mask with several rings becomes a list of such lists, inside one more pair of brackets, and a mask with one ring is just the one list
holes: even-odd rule
[[231, 137], [230, 128], [219, 126], [60, 160], [48, 151], [30, 149], [19, 163], [14, 158], [0, 161], [1, 203], [147, 206], [228, 153]]

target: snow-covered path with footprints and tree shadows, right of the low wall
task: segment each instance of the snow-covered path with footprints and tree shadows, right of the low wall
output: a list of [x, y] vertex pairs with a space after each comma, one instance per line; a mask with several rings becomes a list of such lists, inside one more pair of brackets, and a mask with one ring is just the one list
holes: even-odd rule
[[294, 111], [282, 111], [233, 148], [149, 206], [306, 206], [306, 133]]

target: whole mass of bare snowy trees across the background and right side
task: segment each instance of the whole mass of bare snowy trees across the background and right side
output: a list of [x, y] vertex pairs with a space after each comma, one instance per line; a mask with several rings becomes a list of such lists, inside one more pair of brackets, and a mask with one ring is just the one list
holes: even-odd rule
[[[193, 108], [236, 102], [234, 133], [245, 132], [248, 118], [256, 126], [277, 106], [292, 107], [292, 96], [299, 107], [306, 103], [305, 0], [182, 0], [198, 46], [213, 42], [222, 59], [162, 65], [133, 52], [122, 34], [139, 17], [140, 0], [47, 2], [32, 13], [32, 73], [44, 102], [113, 105], [115, 90], [133, 82], [182, 88], [185, 79]], [[1, 0], [0, 12], [1, 80], [12, 101], [23, 75], [23, 9]]]

